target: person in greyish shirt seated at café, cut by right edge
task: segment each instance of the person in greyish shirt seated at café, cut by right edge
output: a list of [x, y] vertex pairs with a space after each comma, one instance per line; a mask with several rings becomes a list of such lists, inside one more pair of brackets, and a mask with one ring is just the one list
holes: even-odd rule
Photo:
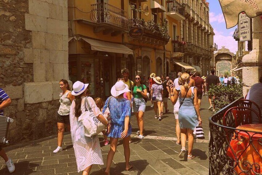
[[[255, 102], [258, 107], [260, 108], [260, 111], [262, 112], [262, 76], [259, 79], [259, 83], [256, 83], [252, 85], [250, 90], [247, 94], [247, 99], [252, 100]], [[259, 109], [255, 106], [251, 106], [252, 109], [254, 109], [257, 113], [259, 113]], [[254, 112], [251, 113], [252, 116], [252, 123], [259, 123], [259, 120]], [[261, 114], [261, 120], [262, 120], [262, 114]]]

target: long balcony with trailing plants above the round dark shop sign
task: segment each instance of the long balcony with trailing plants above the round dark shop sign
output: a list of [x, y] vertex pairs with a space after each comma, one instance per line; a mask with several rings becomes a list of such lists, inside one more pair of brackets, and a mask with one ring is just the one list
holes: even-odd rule
[[[128, 22], [129, 28], [132, 27], [141, 27], [143, 28], [145, 37], [143, 42], [156, 44], [156, 45], [166, 45], [170, 40], [170, 35], [166, 31], [167, 26], [155, 24], [152, 20], [145, 21], [145, 19], [129, 19]], [[143, 39], [143, 38], [141, 38]], [[163, 42], [163, 43], [162, 43]]]

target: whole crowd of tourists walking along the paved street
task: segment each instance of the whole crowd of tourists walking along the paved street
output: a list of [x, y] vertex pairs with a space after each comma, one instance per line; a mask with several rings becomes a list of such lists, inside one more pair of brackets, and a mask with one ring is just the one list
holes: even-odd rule
[[[131, 81], [129, 80], [129, 70], [124, 69], [122, 77], [119, 77], [111, 88], [112, 96], [105, 99], [105, 103], [102, 98], [93, 99], [87, 95], [89, 84], [76, 81], [71, 91], [68, 81], [62, 79], [59, 82], [62, 92], [59, 100], [60, 107], [57, 111], [57, 148], [53, 153], [63, 151], [62, 142], [64, 132], [67, 130], [71, 132], [78, 172], [83, 171], [83, 174], [89, 174], [93, 164], [104, 164], [98, 134], [90, 134], [92, 127], [88, 124], [90, 122], [88, 117], [85, 117], [85, 115], [90, 115], [97, 120], [95, 121], [96, 125], [100, 122], [104, 126], [102, 130], [104, 145], [110, 143], [105, 174], [110, 174], [110, 166], [119, 138], [123, 139], [125, 170], [128, 171], [133, 167], [129, 164], [129, 143], [132, 142], [130, 138], [131, 113], [134, 113], [137, 120], [137, 138], [143, 139], [145, 137], [143, 116], [146, 112], [147, 100], [150, 100], [151, 107], [154, 107], [154, 118], [161, 121], [163, 114], [169, 112], [167, 102], [170, 99], [174, 105], [176, 144], [181, 144], [178, 156], [184, 158], [186, 140], [188, 139], [187, 159], [190, 160], [194, 158], [192, 155], [193, 131], [202, 124], [201, 98], [211, 85], [221, 83], [222, 77], [218, 78], [214, 73], [215, 70], [211, 69], [211, 75], [205, 78], [200, 76], [200, 72], [179, 72], [178, 78], [173, 81], [164, 75], [156, 76], [155, 73], [151, 73], [148, 78], [145, 75], [137, 74], [135, 80]], [[232, 81], [234, 77], [231, 77], [231, 80], [226, 78], [225, 76], [223, 79], [224, 85], [229, 81], [234, 82]], [[238, 82], [237, 79], [235, 82]], [[11, 99], [2, 89], [0, 89], [0, 95], [2, 95], [0, 97], [0, 115], [3, 115], [3, 108], [11, 104]], [[209, 110], [211, 111], [214, 109], [212, 98], [214, 97], [209, 96]], [[9, 172], [13, 172], [15, 166], [1, 148], [0, 155], [4, 158]]]

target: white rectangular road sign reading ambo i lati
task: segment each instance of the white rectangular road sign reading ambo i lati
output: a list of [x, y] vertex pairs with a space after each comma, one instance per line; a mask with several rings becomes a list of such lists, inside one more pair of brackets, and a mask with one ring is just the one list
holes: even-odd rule
[[238, 16], [239, 41], [249, 41], [251, 38], [250, 18], [245, 12]]

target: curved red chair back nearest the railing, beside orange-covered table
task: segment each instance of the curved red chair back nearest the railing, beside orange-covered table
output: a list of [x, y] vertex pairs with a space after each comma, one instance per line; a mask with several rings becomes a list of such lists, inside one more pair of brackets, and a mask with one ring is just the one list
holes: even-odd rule
[[223, 125], [236, 128], [239, 125], [251, 124], [251, 112], [255, 113], [259, 119], [259, 123], [261, 123], [261, 118], [254, 109], [249, 107], [231, 107], [223, 116]]

